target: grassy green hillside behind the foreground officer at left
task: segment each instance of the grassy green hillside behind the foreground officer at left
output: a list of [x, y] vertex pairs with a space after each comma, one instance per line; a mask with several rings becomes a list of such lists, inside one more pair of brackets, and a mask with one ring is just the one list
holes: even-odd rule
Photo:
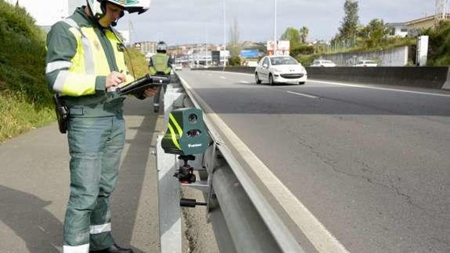
[[[0, 143], [56, 119], [45, 80], [45, 39], [24, 8], [0, 0]], [[134, 73], [144, 75], [144, 56], [128, 51]]]

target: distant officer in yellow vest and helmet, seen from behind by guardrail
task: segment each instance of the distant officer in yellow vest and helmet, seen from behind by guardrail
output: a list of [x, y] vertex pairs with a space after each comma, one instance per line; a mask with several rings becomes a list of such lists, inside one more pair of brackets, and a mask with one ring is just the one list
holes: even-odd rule
[[[164, 41], [158, 42], [156, 45], [156, 54], [150, 57], [148, 70], [150, 75], [170, 76], [172, 70], [172, 61], [167, 54], [167, 45]], [[160, 111], [160, 95], [165, 87], [160, 87], [158, 93], [153, 97], [153, 111]]]

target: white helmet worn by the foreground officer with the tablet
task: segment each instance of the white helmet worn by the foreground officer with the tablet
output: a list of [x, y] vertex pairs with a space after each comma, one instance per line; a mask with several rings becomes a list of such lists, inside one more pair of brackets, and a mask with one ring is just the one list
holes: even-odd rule
[[141, 14], [150, 8], [150, 0], [87, 0], [87, 5], [96, 18], [105, 15], [105, 2], [121, 6], [128, 13], [138, 12]]

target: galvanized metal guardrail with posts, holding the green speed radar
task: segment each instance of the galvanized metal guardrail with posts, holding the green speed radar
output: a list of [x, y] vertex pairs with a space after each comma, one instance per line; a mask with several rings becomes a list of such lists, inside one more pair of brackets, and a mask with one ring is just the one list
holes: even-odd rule
[[[212, 142], [204, 154], [191, 163], [200, 181], [182, 184], [204, 193], [209, 220], [220, 252], [298, 252], [304, 250], [289, 232], [272, 206], [239, 164], [237, 157], [222, 141], [219, 131], [208, 117], [209, 106], [181, 78], [168, 85], [164, 96], [165, 124], [176, 108], [199, 108]], [[156, 147], [160, 214], [160, 250], [181, 252], [180, 183], [172, 175], [178, 168], [175, 155], [161, 148], [162, 135]]]

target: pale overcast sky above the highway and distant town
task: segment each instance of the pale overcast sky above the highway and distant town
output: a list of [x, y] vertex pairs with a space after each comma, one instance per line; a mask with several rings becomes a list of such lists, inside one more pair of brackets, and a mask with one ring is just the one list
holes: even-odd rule
[[[309, 28], [308, 40], [330, 39], [344, 15], [345, 0], [278, 0], [277, 36], [287, 27]], [[273, 0], [228, 0], [227, 36], [230, 22], [237, 20], [240, 40], [264, 41], [273, 37]], [[402, 22], [433, 15], [435, 0], [359, 0], [362, 24], [373, 18]], [[152, 0], [150, 11], [126, 15], [118, 29], [131, 20], [131, 40], [165, 40], [169, 44], [223, 41], [222, 1]]]

